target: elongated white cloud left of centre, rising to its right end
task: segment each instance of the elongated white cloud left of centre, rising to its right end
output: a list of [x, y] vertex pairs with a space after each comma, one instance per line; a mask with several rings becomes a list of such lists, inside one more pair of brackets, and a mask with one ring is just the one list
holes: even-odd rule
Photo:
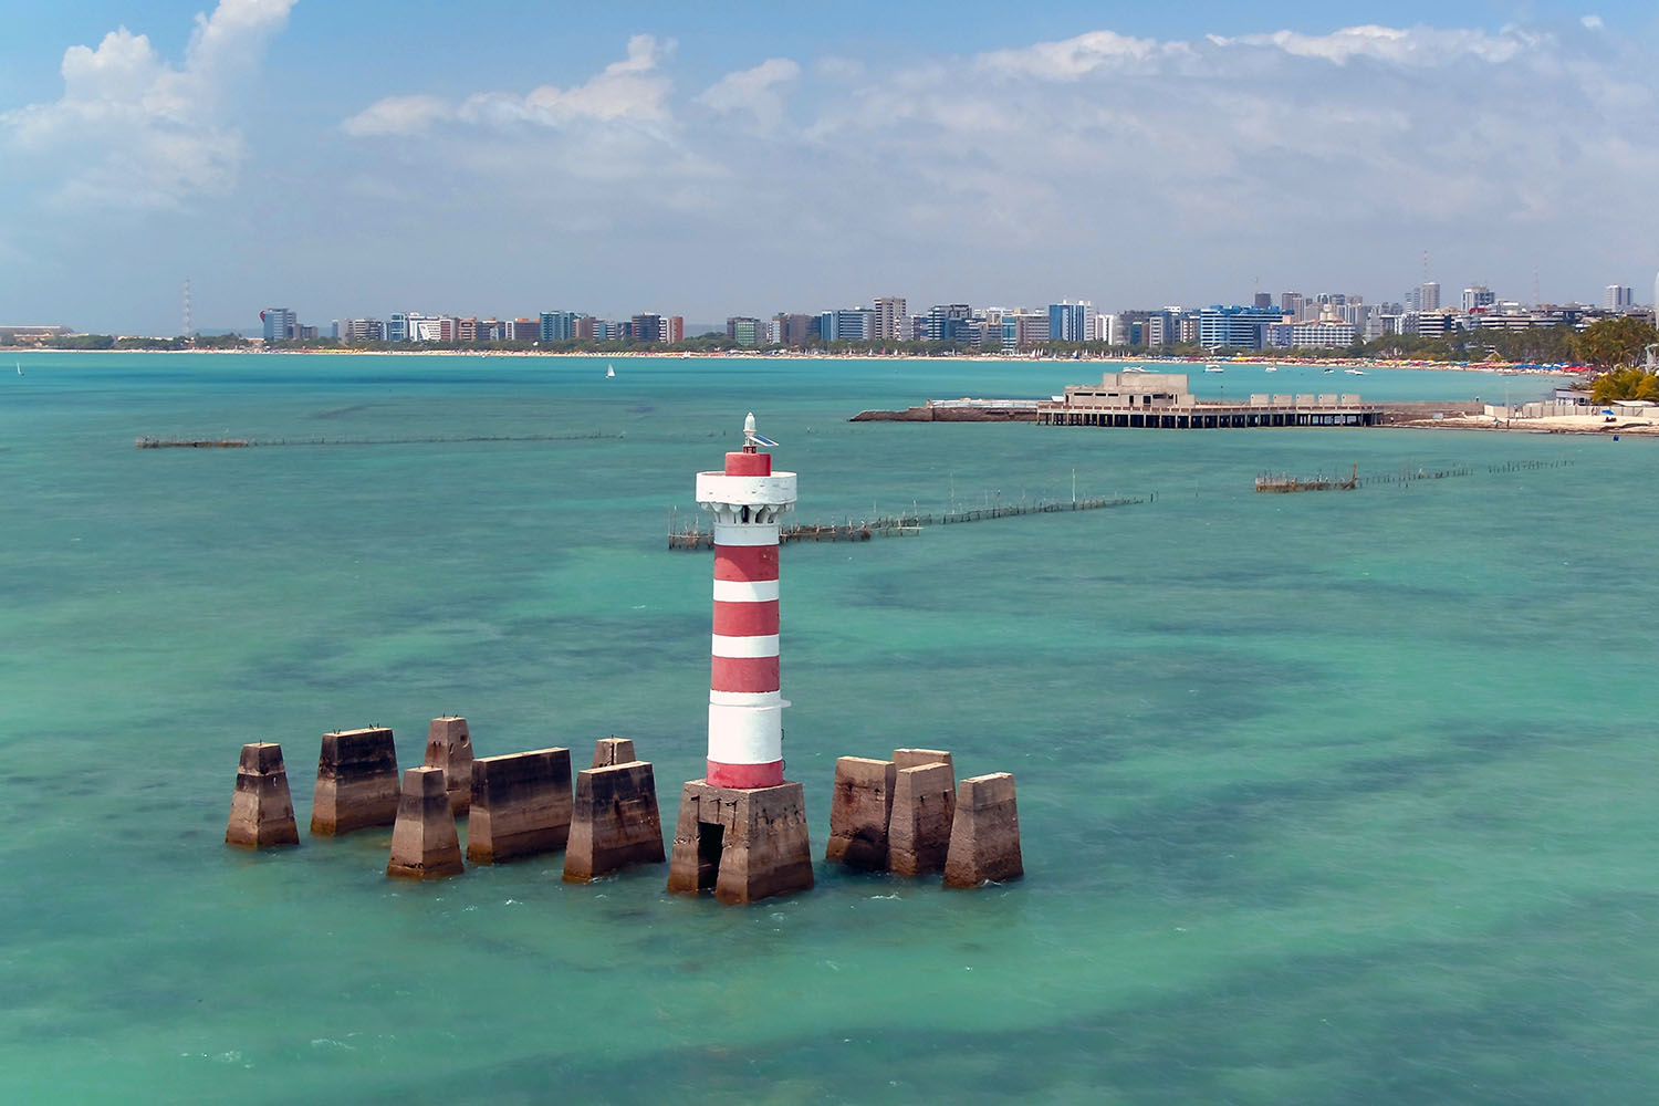
[[440, 123], [484, 128], [531, 124], [564, 128], [582, 123], [627, 123], [660, 128], [670, 121], [667, 76], [660, 63], [674, 53], [674, 41], [634, 35], [627, 56], [612, 61], [582, 85], [559, 88], [541, 85], [528, 93], [474, 93], [458, 103], [438, 96], [387, 96], [363, 108], [340, 126], [358, 138], [420, 134]]

